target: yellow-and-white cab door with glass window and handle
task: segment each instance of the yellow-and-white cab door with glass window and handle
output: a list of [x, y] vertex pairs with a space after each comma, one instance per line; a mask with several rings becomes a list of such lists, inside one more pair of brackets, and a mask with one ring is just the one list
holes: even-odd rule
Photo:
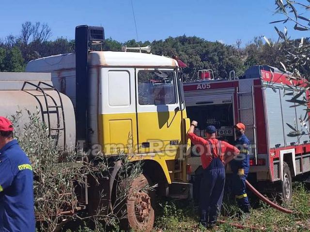
[[171, 152], [181, 142], [176, 72], [173, 69], [136, 69], [139, 153]]

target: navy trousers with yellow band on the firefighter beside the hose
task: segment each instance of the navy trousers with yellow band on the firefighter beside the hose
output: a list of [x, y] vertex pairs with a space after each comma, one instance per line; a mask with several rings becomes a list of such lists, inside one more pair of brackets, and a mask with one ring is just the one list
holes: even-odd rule
[[237, 200], [239, 208], [245, 213], [249, 212], [250, 203], [246, 192], [246, 179], [247, 173], [234, 173], [233, 174], [233, 193]]

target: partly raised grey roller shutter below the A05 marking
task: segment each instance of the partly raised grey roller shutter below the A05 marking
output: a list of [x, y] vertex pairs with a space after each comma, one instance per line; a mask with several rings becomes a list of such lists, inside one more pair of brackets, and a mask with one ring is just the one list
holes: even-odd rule
[[232, 99], [233, 94], [230, 93], [188, 96], [186, 106], [231, 104], [233, 103]]

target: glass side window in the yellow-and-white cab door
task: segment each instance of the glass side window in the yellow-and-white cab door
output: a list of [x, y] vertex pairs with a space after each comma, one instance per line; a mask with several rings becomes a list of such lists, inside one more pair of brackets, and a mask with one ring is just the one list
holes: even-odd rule
[[172, 71], [140, 71], [138, 73], [139, 104], [176, 103], [174, 79]]

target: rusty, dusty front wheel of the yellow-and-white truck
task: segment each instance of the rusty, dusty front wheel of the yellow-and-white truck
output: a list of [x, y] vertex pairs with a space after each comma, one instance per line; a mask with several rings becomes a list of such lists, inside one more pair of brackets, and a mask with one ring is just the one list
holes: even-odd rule
[[140, 174], [131, 185], [127, 200], [129, 227], [134, 231], [151, 232], [154, 225], [155, 212], [151, 201], [153, 192], [145, 192], [143, 188], [150, 185], [148, 178]]

